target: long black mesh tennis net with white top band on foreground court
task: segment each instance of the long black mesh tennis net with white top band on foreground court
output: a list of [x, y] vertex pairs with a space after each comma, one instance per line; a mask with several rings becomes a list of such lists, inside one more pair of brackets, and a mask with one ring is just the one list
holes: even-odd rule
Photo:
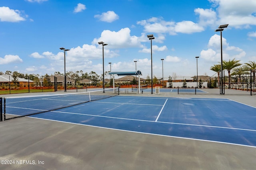
[[119, 88], [88, 92], [0, 98], [0, 121], [24, 117], [119, 95]]

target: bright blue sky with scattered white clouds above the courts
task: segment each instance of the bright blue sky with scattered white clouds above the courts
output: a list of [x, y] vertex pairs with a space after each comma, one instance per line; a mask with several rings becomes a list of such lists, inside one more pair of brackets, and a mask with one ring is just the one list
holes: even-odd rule
[[212, 76], [223, 59], [256, 61], [255, 0], [0, 0], [0, 71], [45, 75], [141, 70], [151, 76]]

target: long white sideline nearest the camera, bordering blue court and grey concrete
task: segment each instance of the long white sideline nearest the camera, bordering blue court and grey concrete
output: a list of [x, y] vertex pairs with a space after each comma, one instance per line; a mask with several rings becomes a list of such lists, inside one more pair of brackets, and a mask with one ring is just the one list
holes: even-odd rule
[[156, 135], [156, 136], [164, 136], [164, 137], [173, 137], [173, 138], [178, 138], [178, 139], [188, 139], [188, 140], [195, 140], [195, 141], [222, 143], [222, 144], [228, 144], [228, 145], [237, 145], [237, 146], [242, 146], [242, 147], [252, 147], [252, 148], [256, 148], [255, 146], [242, 145], [242, 144], [236, 144], [236, 143], [228, 143], [228, 142], [220, 142], [220, 141], [210, 141], [210, 140], [194, 139], [194, 138], [187, 138], [187, 137], [176, 137], [176, 136], [160, 135], [160, 134], [155, 134], [155, 133], [128, 131], [128, 130], [122, 130], [122, 129], [114, 129], [114, 128], [109, 128], [109, 127], [100, 127], [100, 126], [94, 126], [94, 125], [84, 125], [84, 124], [80, 124], [80, 123], [72, 123], [72, 122], [58, 121], [58, 120], [52, 120], [52, 119], [44, 119], [44, 118], [38, 118], [38, 117], [30, 117], [30, 118], [34, 118], [34, 119], [43, 119], [43, 120], [48, 120], [48, 121], [56, 121], [56, 122], [61, 122], [61, 123], [69, 123], [69, 124], [73, 124], [73, 125], [82, 125], [82, 126], [89, 126], [89, 127], [98, 127], [98, 128], [102, 128], [102, 129], [110, 129], [110, 130], [116, 130], [116, 131], [124, 131], [124, 132], [132, 132], [132, 133], [141, 133], [141, 134], [147, 134], [147, 135]]

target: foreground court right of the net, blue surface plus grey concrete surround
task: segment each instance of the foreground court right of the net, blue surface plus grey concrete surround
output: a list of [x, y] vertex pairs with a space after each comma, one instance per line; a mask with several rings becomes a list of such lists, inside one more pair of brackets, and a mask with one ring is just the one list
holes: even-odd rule
[[[178, 95], [164, 89], [156, 95], [149, 90], [1, 122], [1, 159], [45, 162], [1, 168], [249, 170], [256, 166], [255, 96]], [[56, 96], [49, 96], [53, 104]]]

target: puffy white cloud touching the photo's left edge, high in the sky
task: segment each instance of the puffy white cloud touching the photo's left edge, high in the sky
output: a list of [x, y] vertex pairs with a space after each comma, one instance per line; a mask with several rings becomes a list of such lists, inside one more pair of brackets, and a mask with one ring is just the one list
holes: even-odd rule
[[21, 15], [22, 15], [22, 12], [20, 12], [19, 10], [12, 10], [6, 6], [0, 7], [0, 21], [7, 21], [7, 22], [25, 21], [26, 19]]

